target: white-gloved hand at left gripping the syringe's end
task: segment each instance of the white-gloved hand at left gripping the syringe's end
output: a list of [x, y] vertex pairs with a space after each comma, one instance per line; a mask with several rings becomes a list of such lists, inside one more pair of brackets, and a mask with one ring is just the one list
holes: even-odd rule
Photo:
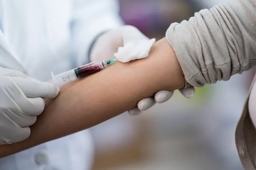
[[29, 126], [44, 110], [43, 98], [53, 99], [58, 94], [52, 84], [0, 67], [0, 145], [28, 138]]

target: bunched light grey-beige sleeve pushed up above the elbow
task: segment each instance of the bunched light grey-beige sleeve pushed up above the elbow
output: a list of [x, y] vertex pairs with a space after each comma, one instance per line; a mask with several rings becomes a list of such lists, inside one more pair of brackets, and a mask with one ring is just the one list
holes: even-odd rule
[[186, 81], [227, 81], [256, 66], [256, 0], [233, 0], [173, 23], [166, 32]]

